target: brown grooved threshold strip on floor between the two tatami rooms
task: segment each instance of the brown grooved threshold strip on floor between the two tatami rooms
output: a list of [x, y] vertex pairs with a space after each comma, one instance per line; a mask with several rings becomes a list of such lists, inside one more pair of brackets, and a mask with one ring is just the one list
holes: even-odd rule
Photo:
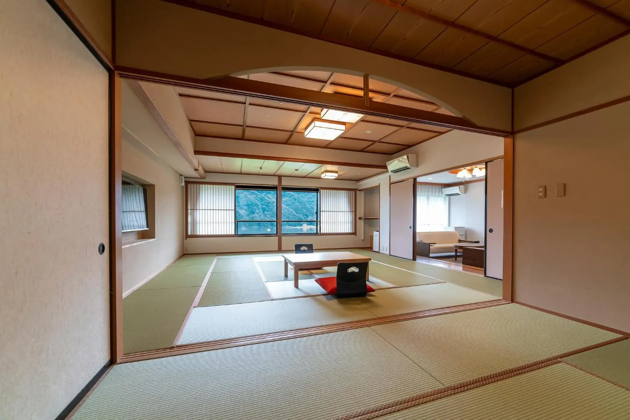
[[198, 353], [200, 351], [211, 351], [231, 347], [248, 346], [249, 344], [270, 343], [271, 341], [281, 341], [292, 338], [316, 336], [319, 334], [328, 334], [329, 332], [347, 331], [349, 329], [391, 324], [393, 322], [410, 321], [411, 319], [427, 318], [437, 315], [455, 314], [456, 312], [464, 312], [466, 310], [481, 309], [507, 304], [510, 304], [510, 302], [501, 299], [495, 299], [487, 300], [484, 302], [476, 302], [474, 304], [454, 305], [416, 312], [408, 312], [406, 314], [389, 315], [387, 317], [381, 318], [340, 322], [338, 324], [328, 324], [325, 326], [307, 327], [289, 331], [268, 332], [266, 334], [258, 334], [255, 336], [206, 341], [205, 343], [184, 344], [181, 346], [175, 346], [166, 349], [150, 350], [139, 353], [130, 353], [129, 355], [123, 355], [120, 363], [187, 355], [190, 353]]

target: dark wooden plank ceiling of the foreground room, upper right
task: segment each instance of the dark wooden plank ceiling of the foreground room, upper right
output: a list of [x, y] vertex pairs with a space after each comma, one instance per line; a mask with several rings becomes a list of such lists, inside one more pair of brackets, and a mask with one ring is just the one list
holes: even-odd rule
[[630, 0], [178, 0], [174, 3], [510, 87], [630, 30]]

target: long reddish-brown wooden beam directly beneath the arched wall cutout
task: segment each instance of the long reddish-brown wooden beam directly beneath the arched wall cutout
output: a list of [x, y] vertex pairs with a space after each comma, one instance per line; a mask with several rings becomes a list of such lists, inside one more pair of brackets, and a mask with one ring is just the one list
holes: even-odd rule
[[364, 115], [394, 118], [396, 120], [435, 125], [467, 132], [498, 135], [506, 137], [512, 132], [497, 128], [480, 127], [460, 116], [446, 115], [437, 112], [418, 110], [406, 106], [391, 105], [381, 102], [370, 102], [365, 106], [363, 98], [345, 96], [334, 93], [312, 91], [310, 89], [294, 88], [281, 84], [260, 82], [241, 79], [241, 77], [222, 77], [220, 79], [195, 79], [193, 77], [175, 76], [159, 72], [150, 72], [129, 67], [118, 67], [121, 76], [130, 79], [139, 79], [150, 82], [165, 83], [171, 86], [203, 89], [239, 96], [251, 96], [252, 98], [268, 99], [272, 101], [285, 101], [304, 106], [317, 106], [321, 108], [334, 108], [340, 111], [349, 111]]

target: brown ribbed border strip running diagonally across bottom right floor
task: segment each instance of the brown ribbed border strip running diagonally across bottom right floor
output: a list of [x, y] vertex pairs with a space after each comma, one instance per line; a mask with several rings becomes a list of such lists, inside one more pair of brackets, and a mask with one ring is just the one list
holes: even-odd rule
[[[425, 402], [430, 402], [433, 400], [437, 400], [443, 397], [448, 397], [449, 395], [459, 394], [460, 392], [464, 392], [467, 390], [471, 390], [477, 387], [481, 387], [483, 385], [488, 385], [493, 382], [498, 382], [503, 379], [515, 377], [517, 375], [522, 375], [523, 373], [532, 372], [532, 370], [538, 370], [547, 366], [555, 365], [556, 363], [567, 363], [562, 358], [577, 355], [578, 353], [583, 353], [584, 351], [589, 351], [592, 349], [600, 348], [603, 346], [607, 346], [608, 344], [617, 343], [619, 341], [623, 341], [627, 339], [626, 336], [620, 336], [617, 338], [613, 338], [607, 341], [602, 341], [601, 343], [591, 344], [590, 346], [582, 347], [579, 349], [567, 351], [566, 353], [562, 353], [561, 355], [551, 356], [539, 361], [534, 361], [532, 363], [527, 363], [525, 365], [516, 366], [514, 368], [509, 368], [506, 370], [501, 370], [500, 372], [490, 373], [490, 375], [484, 375], [483, 377], [474, 378], [471, 380], [467, 380], [460, 383], [455, 383], [454, 385], [449, 385], [448, 387], [435, 389], [429, 392], [423, 392], [423, 394], [414, 395], [413, 397], [407, 397], [404, 399], [387, 402], [386, 404], [381, 404], [379, 406], [370, 407], [368, 409], [364, 409], [361, 411], [355, 411], [350, 414], [344, 414], [340, 417], [335, 417], [333, 420], [368, 420], [374, 419], [375, 417], [384, 416], [385, 414], [390, 414], [392, 412], [404, 410], [410, 407], [419, 406], [420, 404], [424, 404]], [[570, 364], [570, 363], [567, 363]], [[577, 366], [574, 366], [577, 367]], [[580, 369], [583, 370], [583, 369]], [[588, 372], [594, 375], [592, 372]], [[595, 375], [599, 377], [599, 375]], [[605, 378], [602, 378], [605, 380]], [[607, 382], [611, 382], [607, 380]], [[611, 382], [614, 383], [614, 382]], [[614, 383], [614, 385], [618, 385]], [[621, 385], [620, 385], [621, 386]], [[622, 387], [625, 388], [625, 387]]]

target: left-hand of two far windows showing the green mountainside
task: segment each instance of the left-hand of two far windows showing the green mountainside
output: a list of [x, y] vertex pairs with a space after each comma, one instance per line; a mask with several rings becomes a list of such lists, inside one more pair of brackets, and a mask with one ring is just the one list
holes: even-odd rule
[[275, 186], [236, 187], [236, 234], [276, 235], [278, 190]]

